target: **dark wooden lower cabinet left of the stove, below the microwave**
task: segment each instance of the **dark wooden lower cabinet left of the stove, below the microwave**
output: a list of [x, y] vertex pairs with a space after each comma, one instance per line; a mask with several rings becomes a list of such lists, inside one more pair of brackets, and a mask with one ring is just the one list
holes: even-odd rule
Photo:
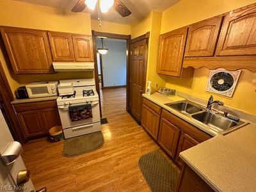
[[14, 104], [24, 136], [45, 136], [51, 127], [61, 125], [56, 100]]

